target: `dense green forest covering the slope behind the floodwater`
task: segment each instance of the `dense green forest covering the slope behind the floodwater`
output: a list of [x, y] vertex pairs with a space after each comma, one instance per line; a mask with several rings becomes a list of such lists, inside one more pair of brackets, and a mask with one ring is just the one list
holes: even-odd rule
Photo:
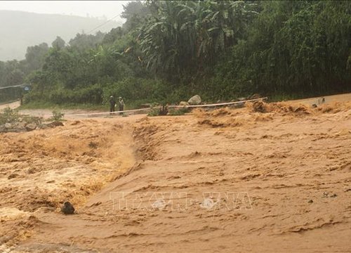
[[58, 105], [351, 91], [351, 1], [131, 1], [121, 17], [0, 62], [0, 86], [26, 82], [24, 103]]

